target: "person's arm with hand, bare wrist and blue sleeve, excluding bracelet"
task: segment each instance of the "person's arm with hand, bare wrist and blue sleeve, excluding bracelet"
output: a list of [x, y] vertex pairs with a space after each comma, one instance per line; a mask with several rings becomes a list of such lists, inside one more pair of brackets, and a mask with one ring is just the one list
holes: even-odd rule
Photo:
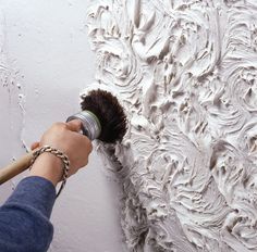
[[[79, 129], [79, 121], [54, 124], [34, 148], [48, 144], [65, 153], [71, 161], [71, 176], [87, 164], [91, 151], [90, 141], [78, 134]], [[0, 207], [0, 251], [47, 251], [53, 234], [49, 218], [54, 187], [61, 178], [62, 161], [51, 153], [39, 155], [29, 176]]]

